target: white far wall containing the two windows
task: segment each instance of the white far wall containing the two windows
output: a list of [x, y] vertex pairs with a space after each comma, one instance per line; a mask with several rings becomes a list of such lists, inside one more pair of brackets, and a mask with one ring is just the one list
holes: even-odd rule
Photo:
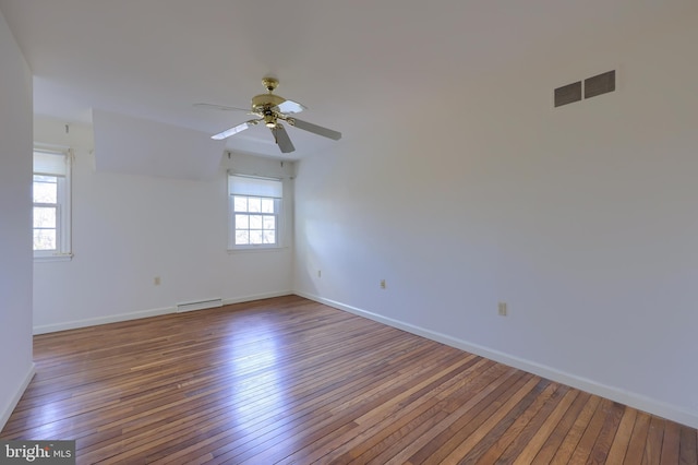
[[[71, 146], [73, 252], [34, 265], [34, 331], [58, 331], [173, 311], [177, 303], [289, 294], [292, 242], [229, 253], [227, 168], [285, 176], [292, 164], [236, 154], [212, 181], [96, 172], [91, 127], [36, 117], [35, 141]], [[292, 208], [292, 198], [289, 199]], [[161, 284], [154, 285], [159, 276]]]

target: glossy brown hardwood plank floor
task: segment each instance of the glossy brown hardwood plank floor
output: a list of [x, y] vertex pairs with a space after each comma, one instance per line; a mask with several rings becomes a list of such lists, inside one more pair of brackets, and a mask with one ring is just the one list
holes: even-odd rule
[[77, 463], [698, 464], [695, 429], [300, 297], [35, 337]]

